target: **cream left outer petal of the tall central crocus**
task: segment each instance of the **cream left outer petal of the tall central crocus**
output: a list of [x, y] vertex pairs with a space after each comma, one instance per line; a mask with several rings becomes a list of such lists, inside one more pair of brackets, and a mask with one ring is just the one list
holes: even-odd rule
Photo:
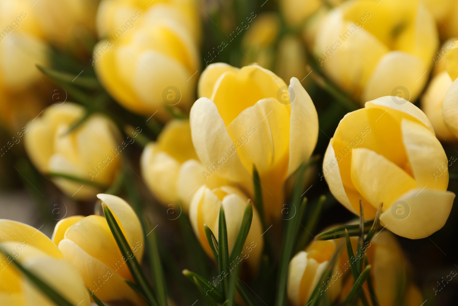
[[[243, 167], [237, 153], [237, 147], [229, 137], [218, 108], [207, 98], [200, 98], [191, 108], [191, 134], [192, 143], [197, 156], [204, 167], [213, 168], [218, 175], [240, 182], [246, 186], [251, 185], [251, 176]], [[225, 157], [227, 161], [222, 166], [214, 166]], [[221, 162], [219, 162], [221, 164]]]

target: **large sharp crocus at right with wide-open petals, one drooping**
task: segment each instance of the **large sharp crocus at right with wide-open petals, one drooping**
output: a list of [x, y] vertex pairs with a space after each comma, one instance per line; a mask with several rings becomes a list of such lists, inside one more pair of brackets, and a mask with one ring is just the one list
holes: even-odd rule
[[[335, 198], [410, 239], [447, 221], [455, 194], [447, 191], [448, 161], [425, 114], [407, 100], [382, 97], [345, 115], [327, 147], [323, 175]], [[434, 217], [431, 217], [434, 216]]]

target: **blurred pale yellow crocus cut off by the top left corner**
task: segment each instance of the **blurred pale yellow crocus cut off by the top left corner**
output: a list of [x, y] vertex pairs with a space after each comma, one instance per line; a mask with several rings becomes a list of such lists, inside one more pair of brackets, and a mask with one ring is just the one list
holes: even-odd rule
[[0, 1], [0, 87], [10, 91], [44, 78], [35, 65], [47, 64], [48, 49], [30, 7], [25, 0]]

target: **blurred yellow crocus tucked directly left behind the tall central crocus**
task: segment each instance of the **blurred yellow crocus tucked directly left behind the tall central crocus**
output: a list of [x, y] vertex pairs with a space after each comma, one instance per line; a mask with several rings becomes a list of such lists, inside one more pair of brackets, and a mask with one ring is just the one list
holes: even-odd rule
[[186, 213], [199, 187], [214, 189], [228, 184], [228, 180], [208, 174], [202, 166], [192, 145], [189, 120], [170, 121], [157, 141], [145, 147], [140, 165], [153, 195], [167, 206], [169, 201], [178, 201]]

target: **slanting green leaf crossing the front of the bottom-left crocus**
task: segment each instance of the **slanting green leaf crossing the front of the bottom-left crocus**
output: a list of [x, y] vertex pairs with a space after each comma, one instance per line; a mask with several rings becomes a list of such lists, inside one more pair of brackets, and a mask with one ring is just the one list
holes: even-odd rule
[[[147, 278], [143, 274], [142, 267], [138, 263], [135, 256], [131, 257], [134, 254], [131, 250], [130, 245], [125, 239], [124, 234], [121, 231], [116, 219], [114, 219], [113, 213], [110, 211], [108, 206], [102, 202], [102, 207], [104, 209], [105, 218], [107, 220], [108, 226], [113, 234], [114, 240], [116, 240], [116, 244], [118, 245], [121, 254], [127, 258], [126, 264], [129, 268], [129, 271], [132, 274], [132, 278], [134, 278], [135, 284], [142, 289], [142, 291], [146, 295], [146, 299], [153, 304], [153, 306], [159, 306], [158, 301], [153, 292], [153, 288], [148, 283]], [[130, 254], [130, 255], [129, 255]]]

